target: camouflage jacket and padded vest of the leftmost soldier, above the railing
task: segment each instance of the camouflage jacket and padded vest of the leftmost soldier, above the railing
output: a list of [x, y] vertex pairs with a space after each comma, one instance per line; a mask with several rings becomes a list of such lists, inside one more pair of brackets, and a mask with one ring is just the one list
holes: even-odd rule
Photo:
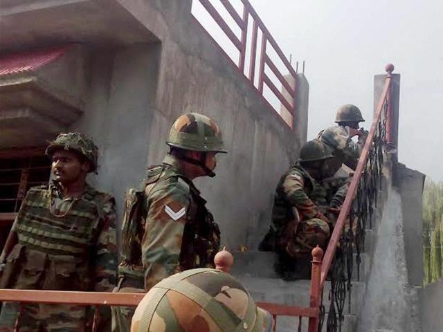
[[114, 287], [116, 213], [114, 198], [108, 194], [86, 185], [79, 198], [62, 199], [57, 185], [33, 187], [12, 230], [18, 243], [6, 258], [1, 287], [62, 291]]

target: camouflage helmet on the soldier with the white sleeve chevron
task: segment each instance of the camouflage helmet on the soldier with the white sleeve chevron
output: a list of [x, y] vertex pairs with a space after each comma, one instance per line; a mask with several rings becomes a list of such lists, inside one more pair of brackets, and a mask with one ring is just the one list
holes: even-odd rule
[[192, 151], [227, 152], [217, 124], [199, 113], [186, 113], [179, 116], [172, 124], [166, 144]]

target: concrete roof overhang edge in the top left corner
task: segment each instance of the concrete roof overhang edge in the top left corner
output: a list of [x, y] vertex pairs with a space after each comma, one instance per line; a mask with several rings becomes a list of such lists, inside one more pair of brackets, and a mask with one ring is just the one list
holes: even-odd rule
[[103, 47], [156, 38], [115, 0], [0, 0], [1, 53], [81, 43]]

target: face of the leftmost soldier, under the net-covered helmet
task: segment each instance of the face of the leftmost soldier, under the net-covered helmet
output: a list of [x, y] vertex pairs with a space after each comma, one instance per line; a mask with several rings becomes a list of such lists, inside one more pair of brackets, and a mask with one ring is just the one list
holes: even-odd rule
[[72, 151], [57, 150], [53, 154], [52, 172], [55, 181], [73, 183], [86, 176], [89, 163]]

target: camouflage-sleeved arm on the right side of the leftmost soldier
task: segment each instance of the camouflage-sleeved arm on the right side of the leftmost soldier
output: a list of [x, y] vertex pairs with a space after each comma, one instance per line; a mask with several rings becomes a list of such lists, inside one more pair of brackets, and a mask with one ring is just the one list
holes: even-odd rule
[[117, 231], [114, 199], [102, 205], [103, 220], [96, 242], [93, 262], [93, 291], [112, 291], [116, 285]]

